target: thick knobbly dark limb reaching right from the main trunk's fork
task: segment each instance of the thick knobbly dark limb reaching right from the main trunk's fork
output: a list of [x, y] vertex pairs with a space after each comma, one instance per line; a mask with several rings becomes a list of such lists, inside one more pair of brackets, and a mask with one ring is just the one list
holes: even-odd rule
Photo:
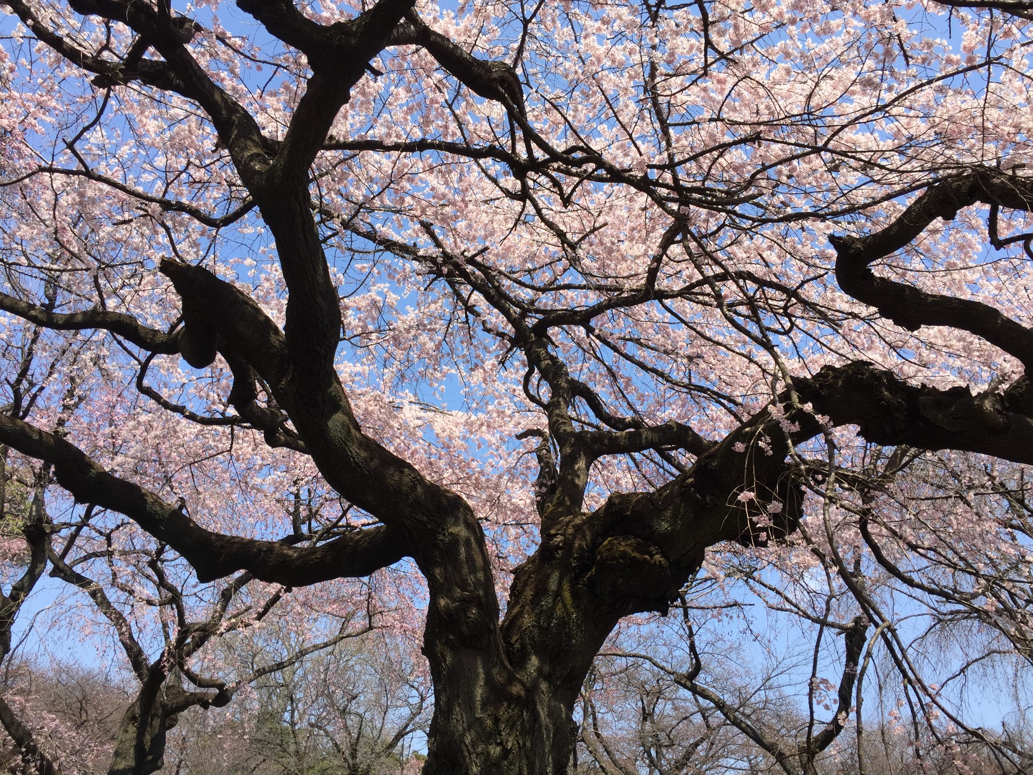
[[859, 426], [875, 443], [1033, 462], [1033, 420], [1009, 411], [996, 394], [915, 388], [867, 363], [826, 367], [793, 382], [799, 400], [813, 410], [787, 407], [781, 420], [760, 411], [657, 490], [613, 495], [589, 515], [543, 520], [542, 547], [518, 572], [510, 595], [503, 629], [512, 648], [528, 648], [516, 645], [527, 637], [525, 608], [552, 593], [545, 566], [560, 557], [581, 568], [575, 575], [594, 596], [585, 605], [595, 608], [595, 621], [616, 623], [606, 617], [664, 610], [707, 547], [762, 545], [793, 530], [802, 496], [787, 460], [789, 441], [820, 435], [822, 414], [834, 426]]

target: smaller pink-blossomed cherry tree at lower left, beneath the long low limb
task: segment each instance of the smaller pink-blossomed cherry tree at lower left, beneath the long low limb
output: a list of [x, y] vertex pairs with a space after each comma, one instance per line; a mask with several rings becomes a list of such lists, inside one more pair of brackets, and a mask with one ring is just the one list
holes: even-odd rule
[[[30, 470], [35, 483], [31, 489], [18, 487], [20, 473], [8, 472], [13, 487], [4, 498], [4, 518], [30, 551], [27, 557], [8, 557], [25, 569], [5, 599], [0, 629], [3, 655], [12, 651], [11, 630], [19, 609], [50, 564], [50, 575], [82, 591], [95, 608], [93, 618], [111, 627], [112, 640], [134, 684], [126, 690], [117, 682], [84, 675], [92, 687], [76, 692], [77, 701], [71, 704], [77, 704], [77, 713], [61, 713], [55, 706], [68, 704], [64, 699], [68, 682], [63, 678], [67, 667], [39, 670], [24, 660], [17, 664], [13, 676], [4, 681], [10, 702], [0, 702], [0, 719], [26, 771], [156, 772], [164, 764], [167, 734], [184, 712], [224, 707], [256, 681], [382, 626], [381, 612], [369, 588], [365, 605], [356, 606], [363, 601], [354, 600], [353, 592], [339, 589], [331, 607], [299, 595], [284, 600], [282, 586], [259, 585], [262, 588], [256, 590], [247, 572], [219, 588], [198, 590], [177, 578], [182, 577], [181, 563], [167, 556], [165, 547], [127, 541], [124, 523], [105, 526], [87, 509], [73, 526], [55, 524], [44, 506], [45, 471]], [[17, 496], [24, 501], [30, 495], [31, 500], [19, 503]], [[293, 506], [294, 521], [300, 524], [300, 491]], [[305, 510], [310, 519], [316, 517], [311, 495]], [[71, 529], [63, 545], [55, 548], [51, 536], [62, 527]], [[296, 533], [286, 540], [301, 542], [305, 537]], [[106, 571], [106, 585], [83, 572], [91, 567]], [[206, 592], [214, 593], [214, 599], [207, 600]], [[73, 609], [71, 613], [81, 618], [84, 612]], [[85, 613], [83, 618], [89, 622], [89, 612]], [[241, 640], [243, 632], [252, 630], [275, 632], [278, 648], [270, 648], [260, 639], [255, 642], [253, 637]], [[240, 642], [231, 651], [227, 651], [229, 639]], [[213, 645], [218, 653], [211, 653]], [[5, 670], [10, 674], [7, 662]], [[75, 670], [73, 665], [73, 674]], [[70, 683], [75, 685], [74, 675]], [[122, 701], [122, 693], [128, 701]], [[98, 705], [106, 710], [99, 711]], [[97, 715], [111, 716], [114, 722], [105, 724], [102, 719], [98, 727]], [[97, 767], [99, 761], [102, 768]]]

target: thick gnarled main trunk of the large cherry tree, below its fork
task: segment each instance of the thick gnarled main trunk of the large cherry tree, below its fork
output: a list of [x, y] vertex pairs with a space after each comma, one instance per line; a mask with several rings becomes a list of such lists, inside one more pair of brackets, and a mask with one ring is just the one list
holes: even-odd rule
[[[536, 555], [518, 575], [500, 659], [470, 649], [441, 655], [425, 646], [435, 685], [425, 775], [568, 772], [582, 685], [606, 637], [631, 611], [607, 605], [591, 579], [542, 564]], [[672, 586], [670, 575], [660, 584], [664, 591]], [[653, 599], [658, 609], [666, 600]]]

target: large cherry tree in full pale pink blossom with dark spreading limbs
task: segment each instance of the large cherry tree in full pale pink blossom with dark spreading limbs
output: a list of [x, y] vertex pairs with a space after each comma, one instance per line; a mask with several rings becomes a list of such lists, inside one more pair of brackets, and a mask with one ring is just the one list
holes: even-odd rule
[[[894, 601], [1029, 659], [1030, 3], [0, 4], [0, 442], [64, 515], [4, 621], [117, 533], [173, 644], [236, 574], [422, 616], [429, 774], [566, 772], [602, 649], [787, 773], [864, 769], [877, 659], [1028, 764]], [[622, 640], [700, 579], [812, 627], [803, 721]]]

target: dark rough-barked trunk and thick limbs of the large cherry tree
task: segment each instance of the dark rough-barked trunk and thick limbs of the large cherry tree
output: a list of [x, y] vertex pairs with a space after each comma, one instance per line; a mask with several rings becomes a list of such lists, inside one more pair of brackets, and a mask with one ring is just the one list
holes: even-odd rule
[[[547, 385], [547, 436], [560, 453], [556, 481], [539, 500], [540, 547], [516, 570], [500, 621], [484, 534], [470, 505], [364, 434], [355, 421], [334, 368], [341, 312], [313, 216], [308, 169], [350, 88], [386, 45], [424, 45], [474, 92], [506, 105], [513, 122], [530, 134], [511, 68], [476, 60], [430, 30], [412, 11], [412, 0], [381, 0], [355, 20], [328, 27], [303, 17], [288, 0], [241, 0], [241, 8], [270, 33], [304, 52], [313, 71], [286, 134], [274, 143], [193, 59], [186, 48], [192, 23], [167, 8], [162, 12], [130, 0], [72, 1], [80, 13], [127, 25], [145, 51], [161, 57], [115, 63], [77, 50], [22, 0], [3, 1], [40, 40], [101, 83], [133, 81], [173, 91], [207, 113], [272, 230], [289, 300], [281, 330], [247, 296], [207, 270], [164, 260], [160, 271], [182, 300], [184, 328], [175, 335], [121, 313], [59, 315], [8, 296], [0, 296], [0, 308], [43, 327], [117, 332], [151, 352], [180, 352], [198, 368], [221, 355], [233, 372], [229, 400], [241, 415], [263, 430], [270, 444], [310, 455], [332, 487], [383, 526], [315, 549], [220, 535], [103, 470], [55, 434], [0, 416], [0, 441], [52, 464], [57, 482], [77, 500], [135, 520], [191, 562], [202, 581], [245, 569], [260, 580], [298, 586], [365, 576], [412, 557], [430, 593], [424, 652], [434, 679], [435, 712], [426, 775], [566, 772], [578, 690], [620, 618], [665, 611], [708, 547], [729, 540], [760, 544], [793, 529], [802, 494], [790, 442], [822, 432], [802, 404], [809, 402], [834, 425], [859, 426], [865, 438], [878, 443], [968, 450], [1033, 463], [1033, 420], [1019, 388], [1004, 396], [914, 388], [865, 363], [793, 380], [792, 392], [784, 396], [788, 420], [799, 427], [791, 437], [766, 410], [720, 442], [703, 440], [677, 423], [646, 427], [614, 417], [567, 373], [550, 346], [550, 326], [581, 324], [576, 315], [557, 313], [532, 324], [490, 283], [456, 261], [449, 271], [507, 317], [514, 346]], [[909, 328], [954, 326], [1033, 363], [1033, 335], [996, 310], [970, 302], [947, 304], [877, 278], [868, 268], [914, 239], [932, 219], [953, 217], [967, 204], [1029, 210], [1030, 190], [1028, 181], [996, 171], [933, 186], [888, 229], [834, 241], [841, 286]], [[676, 223], [667, 239], [678, 233]], [[644, 288], [640, 299], [651, 298], [658, 298], [655, 288]], [[269, 386], [275, 407], [257, 404], [256, 377]], [[609, 430], [575, 430], [574, 399], [592, 406]], [[765, 439], [766, 452], [756, 443], [759, 438]], [[588, 471], [596, 459], [671, 445], [696, 456], [691, 468], [653, 492], [616, 495], [591, 513], [583, 510]], [[739, 500], [743, 491], [755, 493], [755, 499]], [[776, 500], [784, 507], [776, 524], [762, 529], [753, 518]], [[163, 685], [156, 682], [155, 691]], [[145, 705], [152, 710], [145, 712]], [[153, 771], [160, 757], [152, 748], [160, 743], [167, 717], [163, 703], [131, 708], [113, 772]]]

